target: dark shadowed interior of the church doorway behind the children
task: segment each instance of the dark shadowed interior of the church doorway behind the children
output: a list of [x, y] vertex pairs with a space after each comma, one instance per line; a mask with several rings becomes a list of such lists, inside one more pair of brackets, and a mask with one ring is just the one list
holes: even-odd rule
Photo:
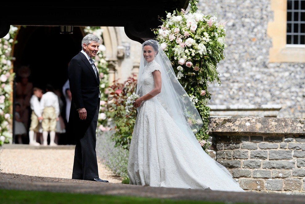
[[[68, 62], [81, 50], [83, 27], [74, 27], [73, 34], [60, 34], [59, 26], [22, 26], [16, 36], [13, 56], [15, 82], [20, 81], [18, 69], [29, 66], [29, 81], [34, 87], [45, 90], [46, 84], [62, 90], [66, 82]], [[65, 99], [62, 117], [65, 120]], [[30, 117], [30, 114], [29, 114]], [[66, 120], [65, 120], [66, 122]], [[28, 122], [28, 128], [30, 118]], [[15, 139], [15, 137], [14, 137]], [[23, 143], [28, 143], [28, 135]], [[59, 144], [73, 143], [65, 134], [61, 135]]]

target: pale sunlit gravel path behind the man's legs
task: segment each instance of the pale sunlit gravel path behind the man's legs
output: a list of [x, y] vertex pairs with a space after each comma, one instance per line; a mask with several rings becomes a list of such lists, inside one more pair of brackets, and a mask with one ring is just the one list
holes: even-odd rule
[[[75, 146], [60, 146], [4, 145], [0, 149], [0, 170], [3, 173], [71, 179]], [[122, 182], [100, 161], [98, 167], [101, 179]]]

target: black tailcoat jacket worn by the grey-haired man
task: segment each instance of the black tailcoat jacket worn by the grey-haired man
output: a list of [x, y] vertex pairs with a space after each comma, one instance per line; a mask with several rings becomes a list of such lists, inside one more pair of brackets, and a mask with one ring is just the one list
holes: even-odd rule
[[[68, 128], [71, 138], [81, 139], [100, 105], [100, 78], [96, 77], [87, 57], [81, 52], [71, 59], [68, 78], [72, 95]], [[86, 108], [85, 120], [80, 120], [79, 108]]]

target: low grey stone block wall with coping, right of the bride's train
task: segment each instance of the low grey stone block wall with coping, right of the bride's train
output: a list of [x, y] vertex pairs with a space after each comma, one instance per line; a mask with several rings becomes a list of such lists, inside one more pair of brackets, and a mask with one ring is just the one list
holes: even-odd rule
[[305, 118], [209, 119], [210, 156], [246, 191], [305, 194]]

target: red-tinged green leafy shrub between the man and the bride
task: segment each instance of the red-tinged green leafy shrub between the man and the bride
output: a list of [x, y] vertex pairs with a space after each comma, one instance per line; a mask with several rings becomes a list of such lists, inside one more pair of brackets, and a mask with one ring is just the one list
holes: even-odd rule
[[128, 77], [124, 83], [114, 81], [109, 86], [107, 111], [105, 112], [111, 124], [111, 130], [115, 130], [112, 135], [116, 145], [120, 145], [129, 150], [129, 142], [132, 137], [133, 127], [136, 121], [136, 109], [129, 115], [125, 112], [125, 102], [133, 92], [136, 91], [136, 75]]

